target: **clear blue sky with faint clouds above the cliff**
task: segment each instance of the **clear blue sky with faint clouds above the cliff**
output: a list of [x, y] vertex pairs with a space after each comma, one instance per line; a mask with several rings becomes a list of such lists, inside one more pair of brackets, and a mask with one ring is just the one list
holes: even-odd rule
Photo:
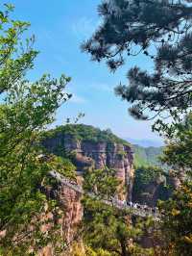
[[40, 51], [35, 70], [29, 79], [36, 80], [43, 73], [72, 77], [68, 86], [74, 96], [60, 107], [56, 124], [66, 117], [85, 114], [81, 122], [101, 129], [110, 128], [122, 138], [154, 140], [151, 123], [137, 121], [128, 114], [128, 104], [114, 95], [113, 88], [126, 83], [126, 72], [132, 65], [152, 69], [153, 64], [144, 56], [132, 58], [114, 74], [106, 64], [96, 64], [80, 50], [81, 42], [89, 38], [100, 20], [97, 6], [101, 0], [12, 0], [14, 16], [30, 21], [31, 34], [36, 35], [36, 49]]

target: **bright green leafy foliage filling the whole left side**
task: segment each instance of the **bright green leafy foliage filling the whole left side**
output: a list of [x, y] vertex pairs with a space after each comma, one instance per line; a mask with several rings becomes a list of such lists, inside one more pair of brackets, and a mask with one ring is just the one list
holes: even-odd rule
[[[0, 237], [1, 255], [28, 255], [58, 239], [55, 228], [41, 231], [47, 211], [56, 204], [40, 191], [44, 177], [53, 168], [39, 161], [40, 133], [54, 120], [54, 114], [69, 95], [64, 92], [70, 78], [43, 75], [36, 82], [25, 79], [34, 67], [34, 37], [24, 40], [29, 23], [13, 20], [12, 5], [0, 12]], [[60, 160], [61, 161], [61, 160]], [[57, 165], [61, 165], [61, 163]], [[66, 161], [64, 162], [66, 164]], [[67, 172], [72, 170], [69, 165]], [[65, 170], [63, 170], [65, 173]], [[46, 223], [48, 223], [47, 220]]]

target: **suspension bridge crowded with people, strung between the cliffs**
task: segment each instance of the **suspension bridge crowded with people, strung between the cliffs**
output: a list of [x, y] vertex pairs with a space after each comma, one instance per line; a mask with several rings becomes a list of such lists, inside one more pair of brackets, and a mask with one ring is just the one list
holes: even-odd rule
[[[82, 186], [65, 178], [59, 172], [52, 170], [49, 172], [49, 174], [51, 177], [55, 178], [58, 182], [65, 185], [66, 187], [72, 189], [75, 192], [84, 194], [84, 190]], [[96, 198], [96, 195], [94, 193], [87, 192], [86, 194], [92, 198]], [[127, 210], [133, 216], [137, 216], [141, 218], [151, 217], [151, 218], [154, 218], [156, 221], [160, 220], [160, 214], [157, 211], [154, 211], [152, 208], [146, 207], [146, 205], [141, 205], [141, 204], [128, 205], [128, 204], [125, 204], [125, 202], [118, 200], [116, 198], [111, 198], [111, 200], [103, 200], [103, 202], [119, 210]]]

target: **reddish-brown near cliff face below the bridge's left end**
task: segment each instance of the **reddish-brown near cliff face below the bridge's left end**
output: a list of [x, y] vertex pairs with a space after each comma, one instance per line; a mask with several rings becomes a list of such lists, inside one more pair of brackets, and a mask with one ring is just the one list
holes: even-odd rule
[[[55, 180], [54, 180], [55, 181]], [[78, 235], [79, 225], [83, 218], [83, 207], [81, 203], [82, 194], [73, 189], [54, 182], [54, 186], [43, 187], [43, 191], [48, 198], [56, 199], [60, 205], [60, 217], [55, 213], [48, 213], [49, 223], [41, 228], [43, 232], [50, 230], [50, 225], [60, 225], [56, 236], [59, 239], [56, 244], [49, 243], [46, 247], [39, 250], [38, 256], [54, 256], [55, 249], [60, 248], [61, 243], [65, 243], [65, 248], [60, 251], [60, 256], [67, 256], [70, 253], [70, 246], [73, 241], [82, 245], [82, 238]], [[44, 218], [42, 214], [42, 218]], [[61, 242], [61, 243], [60, 243]]]

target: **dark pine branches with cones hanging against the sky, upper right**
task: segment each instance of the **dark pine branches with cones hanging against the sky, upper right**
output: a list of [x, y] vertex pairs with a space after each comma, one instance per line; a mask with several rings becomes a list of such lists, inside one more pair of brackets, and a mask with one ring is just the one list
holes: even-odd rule
[[135, 118], [180, 116], [191, 107], [189, 2], [105, 0], [99, 5], [102, 25], [82, 46], [91, 60], [105, 60], [111, 71], [138, 54], [154, 64], [153, 72], [133, 66], [127, 74], [129, 84], [115, 90], [132, 104], [129, 110]]

